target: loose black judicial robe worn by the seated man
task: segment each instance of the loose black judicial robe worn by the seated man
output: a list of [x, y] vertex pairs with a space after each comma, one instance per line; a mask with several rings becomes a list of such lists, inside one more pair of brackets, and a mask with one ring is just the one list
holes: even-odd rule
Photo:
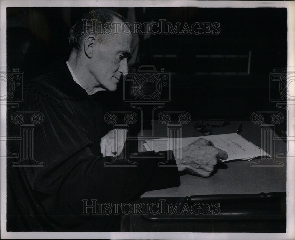
[[[104, 166], [113, 158], [100, 152], [106, 134], [101, 106], [73, 80], [64, 59], [28, 82], [24, 101], [7, 110], [7, 133], [19, 136], [20, 125], [10, 119], [14, 112], [44, 116], [35, 124], [35, 160], [44, 166], [12, 167], [16, 159], [7, 160], [8, 181], [32, 231], [118, 231], [118, 215], [83, 215], [82, 200], [124, 203], [145, 191], [180, 185], [175, 161], [169, 161], [175, 166], [159, 167], [166, 159], [152, 157], [153, 152], [132, 158], [136, 167]], [[20, 154], [17, 141], [8, 147]]]

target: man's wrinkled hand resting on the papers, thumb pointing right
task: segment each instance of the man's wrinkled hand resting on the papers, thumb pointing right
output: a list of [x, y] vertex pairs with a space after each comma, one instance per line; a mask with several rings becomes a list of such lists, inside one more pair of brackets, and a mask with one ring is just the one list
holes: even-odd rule
[[[181, 159], [178, 152], [181, 150]], [[181, 148], [173, 150], [179, 171], [188, 171], [202, 177], [208, 177], [217, 164], [217, 159], [227, 159], [227, 152], [215, 148], [211, 142], [200, 138], [197, 141]], [[189, 163], [189, 164], [188, 164]]]

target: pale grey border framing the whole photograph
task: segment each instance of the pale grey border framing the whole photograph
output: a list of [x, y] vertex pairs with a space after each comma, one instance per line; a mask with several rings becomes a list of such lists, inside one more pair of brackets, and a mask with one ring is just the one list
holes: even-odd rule
[[[106, 0], [40, 0], [1, 1], [1, 66], [6, 66], [6, 8], [7, 7], [199, 7], [199, 8], [287, 8], [287, 66], [295, 66], [295, 2], [292, 1], [106, 1]], [[5, 85], [4, 85], [5, 86]], [[1, 96], [6, 87], [1, 89]], [[295, 96], [293, 89], [292, 96]], [[295, 104], [287, 100], [291, 119], [287, 119], [290, 142], [287, 164], [287, 227], [286, 233], [188, 233], [188, 232], [6, 232], [6, 158], [1, 158], [1, 239], [294, 239], [294, 141]], [[6, 153], [6, 101], [1, 101], [1, 154]], [[293, 161], [292, 161], [293, 160]]]

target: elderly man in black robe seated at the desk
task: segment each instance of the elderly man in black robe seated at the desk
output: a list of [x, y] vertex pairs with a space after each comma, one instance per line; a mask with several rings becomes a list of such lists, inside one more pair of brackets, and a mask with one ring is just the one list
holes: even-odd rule
[[[94, 28], [85, 34], [82, 19], [119, 24], [116, 33], [113, 25], [109, 34], [94, 32]], [[23, 167], [13, 168], [9, 162], [8, 175], [33, 231], [118, 231], [118, 215], [82, 214], [83, 200], [136, 200], [148, 190], [179, 186], [179, 171], [209, 176], [217, 159], [227, 158], [226, 152], [200, 139], [184, 147], [181, 160], [176, 163], [172, 159], [170, 167], [159, 166], [168, 160], [167, 151], [162, 152], [164, 158], [153, 152], [139, 154], [132, 158], [136, 167], [118, 166], [126, 163], [120, 158], [116, 166], [105, 165], [122, 151], [126, 131], [121, 131], [123, 141], [114, 149], [113, 131], [105, 133], [101, 106], [93, 96], [99, 91], [115, 91], [121, 76], [127, 74], [131, 35], [122, 29], [124, 22], [122, 16], [105, 9], [83, 15], [70, 31], [73, 49], [68, 61], [53, 63], [25, 88], [24, 102], [17, 111], [44, 116], [43, 122], [35, 125], [35, 160], [44, 166], [25, 167], [22, 161]], [[11, 135], [18, 135], [17, 124], [10, 129]], [[10, 151], [21, 155], [17, 144]], [[93, 209], [92, 203], [86, 206]]]

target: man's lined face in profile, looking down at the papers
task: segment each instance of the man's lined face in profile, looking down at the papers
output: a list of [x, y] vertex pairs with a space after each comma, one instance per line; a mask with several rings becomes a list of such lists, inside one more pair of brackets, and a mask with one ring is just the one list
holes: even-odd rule
[[[120, 77], [127, 74], [127, 58], [131, 51], [131, 34], [123, 33], [120, 26], [118, 32], [119, 34], [111, 33], [113, 36], [105, 45], [96, 41], [94, 55], [90, 59], [89, 70], [95, 77], [97, 86], [109, 91], [115, 91]], [[129, 30], [126, 29], [125, 32], [128, 33]]]

